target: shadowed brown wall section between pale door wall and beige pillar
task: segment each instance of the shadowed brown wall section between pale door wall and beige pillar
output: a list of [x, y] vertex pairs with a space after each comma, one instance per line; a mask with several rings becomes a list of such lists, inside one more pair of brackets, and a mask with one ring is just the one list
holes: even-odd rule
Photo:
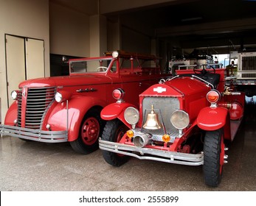
[[89, 15], [49, 3], [50, 53], [90, 56]]

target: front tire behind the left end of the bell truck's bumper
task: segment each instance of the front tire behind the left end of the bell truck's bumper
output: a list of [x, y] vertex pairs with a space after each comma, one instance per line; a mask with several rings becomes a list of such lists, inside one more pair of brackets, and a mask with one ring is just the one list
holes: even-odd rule
[[[127, 130], [128, 127], [126, 127], [119, 119], [107, 121], [103, 130], [102, 140], [119, 142]], [[129, 159], [128, 156], [105, 150], [103, 150], [103, 157], [111, 166], [122, 166], [122, 164], [126, 163]]]

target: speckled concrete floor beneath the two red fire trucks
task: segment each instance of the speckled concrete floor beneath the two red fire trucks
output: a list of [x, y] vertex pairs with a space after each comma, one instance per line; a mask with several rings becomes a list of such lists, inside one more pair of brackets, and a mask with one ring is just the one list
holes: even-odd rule
[[[108, 165], [100, 149], [89, 155], [69, 143], [0, 138], [0, 191], [256, 191], [256, 115], [248, 106], [243, 125], [229, 146], [221, 185], [204, 185], [201, 166], [131, 160]], [[254, 113], [252, 113], [254, 111]]]

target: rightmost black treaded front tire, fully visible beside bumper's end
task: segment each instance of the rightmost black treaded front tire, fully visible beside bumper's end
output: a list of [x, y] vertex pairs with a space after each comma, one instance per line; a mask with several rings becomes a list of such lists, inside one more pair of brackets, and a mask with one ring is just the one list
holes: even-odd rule
[[217, 187], [221, 182], [224, 165], [223, 129], [208, 131], [204, 138], [204, 182], [210, 187]]

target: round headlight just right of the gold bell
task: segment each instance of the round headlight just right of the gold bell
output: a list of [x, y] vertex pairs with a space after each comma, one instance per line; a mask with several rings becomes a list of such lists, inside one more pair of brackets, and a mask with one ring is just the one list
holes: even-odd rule
[[184, 129], [190, 124], [190, 118], [183, 110], [176, 110], [170, 117], [170, 122], [177, 129]]

